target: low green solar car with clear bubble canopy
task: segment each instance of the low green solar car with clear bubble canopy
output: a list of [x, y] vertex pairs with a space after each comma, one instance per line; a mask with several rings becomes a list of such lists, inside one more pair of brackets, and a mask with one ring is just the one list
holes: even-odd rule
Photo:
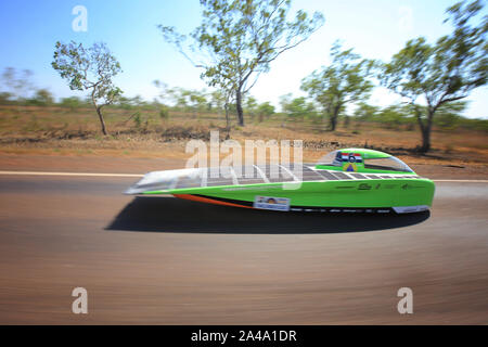
[[317, 164], [253, 165], [153, 171], [126, 194], [171, 194], [277, 211], [406, 214], [429, 209], [435, 185], [397, 157], [343, 149]]

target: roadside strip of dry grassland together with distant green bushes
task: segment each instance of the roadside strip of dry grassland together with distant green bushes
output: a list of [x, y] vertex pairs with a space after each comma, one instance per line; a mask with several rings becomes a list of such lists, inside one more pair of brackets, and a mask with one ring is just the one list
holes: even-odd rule
[[[247, 97], [245, 127], [239, 126], [235, 105], [228, 105], [216, 91], [172, 88], [166, 98], [146, 101], [140, 95], [120, 97], [104, 111], [107, 136], [94, 121], [91, 100], [56, 99], [47, 88], [30, 88], [14, 94], [0, 85], [0, 151], [3, 153], [48, 153], [66, 155], [111, 155], [184, 157], [191, 139], [209, 140], [211, 130], [245, 140], [304, 141], [304, 159], [314, 162], [339, 147], [371, 147], [406, 158], [409, 163], [449, 160], [486, 163], [488, 119], [462, 116], [465, 102], [449, 103], [438, 111], [433, 127], [433, 149], [420, 155], [419, 124], [410, 105], [377, 107], [365, 102], [342, 107], [336, 128], [320, 106], [304, 97], [280, 98], [279, 110], [269, 102]], [[229, 136], [230, 134], [230, 136]], [[434, 160], [434, 162], [433, 162]]]

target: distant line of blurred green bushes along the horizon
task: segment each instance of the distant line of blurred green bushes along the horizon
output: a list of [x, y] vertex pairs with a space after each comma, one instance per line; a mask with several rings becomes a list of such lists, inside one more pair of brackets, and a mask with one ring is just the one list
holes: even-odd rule
[[[164, 99], [164, 100], [162, 100]], [[303, 123], [304, 126], [324, 125], [328, 118], [320, 112], [319, 107], [306, 98], [292, 98], [291, 94], [280, 99], [281, 112], [269, 102], [258, 103], [253, 97], [244, 100], [244, 111], [251, 119], [255, 121], [267, 121], [271, 117], [282, 121]], [[30, 97], [16, 95], [13, 92], [0, 92], [0, 105], [17, 106], [59, 106], [66, 107], [75, 112], [80, 108], [90, 108], [91, 100], [78, 97], [61, 98], [56, 100], [48, 89], [35, 89], [30, 91]], [[183, 88], [172, 88], [165, 98], [157, 98], [153, 101], [143, 100], [140, 95], [133, 98], [119, 98], [111, 108], [121, 108], [133, 112], [151, 111], [159, 114], [162, 118], [168, 118], [170, 113], [187, 113], [191, 115], [217, 114], [223, 115], [223, 101], [218, 92], [206, 92], [187, 90]], [[434, 125], [439, 129], [471, 129], [488, 132], [488, 119], [472, 119], [463, 117], [461, 114], [466, 107], [466, 102], [460, 101], [446, 104], [438, 110], [434, 119]], [[229, 113], [236, 115], [235, 105], [231, 105]], [[341, 111], [338, 127], [348, 127], [350, 121], [375, 123], [385, 129], [391, 130], [415, 130], [418, 119], [411, 105], [400, 104], [386, 107], [373, 106], [368, 103], [359, 105], [346, 114]]]

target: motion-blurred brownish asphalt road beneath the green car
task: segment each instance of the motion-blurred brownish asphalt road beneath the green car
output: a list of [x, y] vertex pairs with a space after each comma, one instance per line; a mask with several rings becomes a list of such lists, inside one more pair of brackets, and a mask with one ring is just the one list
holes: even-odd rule
[[134, 180], [0, 177], [0, 324], [488, 323], [487, 183], [331, 216], [121, 195]]

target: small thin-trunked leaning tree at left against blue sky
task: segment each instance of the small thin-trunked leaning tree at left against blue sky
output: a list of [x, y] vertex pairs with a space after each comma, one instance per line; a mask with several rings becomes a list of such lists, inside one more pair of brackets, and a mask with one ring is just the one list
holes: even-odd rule
[[69, 89], [90, 92], [102, 132], [107, 134], [102, 108], [114, 103], [123, 91], [113, 82], [113, 78], [121, 72], [120, 64], [106, 44], [101, 42], [85, 48], [75, 41], [57, 41], [51, 65], [68, 81]]

